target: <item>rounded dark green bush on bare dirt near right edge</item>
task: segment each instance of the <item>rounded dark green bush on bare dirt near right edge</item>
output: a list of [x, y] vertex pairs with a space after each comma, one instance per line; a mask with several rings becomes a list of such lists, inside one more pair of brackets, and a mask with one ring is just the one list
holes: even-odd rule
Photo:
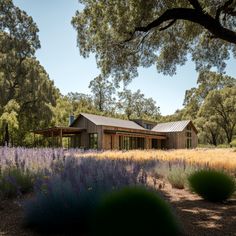
[[193, 192], [212, 202], [222, 202], [235, 191], [234, 178], [216, 170], [196, 171], [188, 180]]

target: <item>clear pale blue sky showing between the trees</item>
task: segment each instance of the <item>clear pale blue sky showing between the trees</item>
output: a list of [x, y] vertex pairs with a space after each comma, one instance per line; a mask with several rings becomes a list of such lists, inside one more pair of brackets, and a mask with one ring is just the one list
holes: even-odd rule
[[[89, 93], [90, 80], [99, 75], [95, 57], [84, 59], [76, 46], [76, 31], [71, 25], [72, 16], [79, 8], [77, 0], [13, 0], [15, 5], [32, 16], [39, 27], [41, 49], [37, 59], [48, 72], [50, 79], [62, 94]], [[227, 74], [236, 77], [236, 60], [228, 62]], [[173, 77], [158, 74], [155, 67], [140, 68], [139, 77], [128, 86], [140, 89], [152, 97], [167, 115], [182, 107], [186, 89], [196, 86], [198, 74], [191, 61], [179, 67]]]

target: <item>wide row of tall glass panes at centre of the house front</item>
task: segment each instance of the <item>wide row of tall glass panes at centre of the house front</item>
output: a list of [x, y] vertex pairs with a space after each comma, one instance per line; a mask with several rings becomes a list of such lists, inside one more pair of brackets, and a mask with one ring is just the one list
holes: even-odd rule
[[119, 136], [119, 149], [144, 149], [145, 139], [141, 137]]

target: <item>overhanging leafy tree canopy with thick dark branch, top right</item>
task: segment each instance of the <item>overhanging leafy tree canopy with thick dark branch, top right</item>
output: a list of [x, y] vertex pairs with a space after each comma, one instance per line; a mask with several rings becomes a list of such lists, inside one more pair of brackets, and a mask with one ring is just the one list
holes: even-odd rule
[[139, 66], [153, 64], [173, 75], [189, 57], [197, 70], [223, 71], [230, 52], [236, 57], [234, 0], [79, 2], [83, 7], [72, 24], [80, 53], [95, 53], [102, 73], [117, 80], [134, 78]]

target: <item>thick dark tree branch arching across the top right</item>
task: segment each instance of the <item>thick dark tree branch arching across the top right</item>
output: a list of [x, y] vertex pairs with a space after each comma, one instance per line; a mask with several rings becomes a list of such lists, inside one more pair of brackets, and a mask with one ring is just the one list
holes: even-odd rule
[[148, 32], [169, 20], [187, 20], [197, 23], [207, 29], [216, 38], [236, 44], [236, 32], [224, 28], [218, 20], [209, 14], [191, 8], [173, 8], [166, 10], [160, 17], [148, 25], [136, 27], [135, 30], [130, 33], [131, 37], [127, 39], [126, 42], [132, 40], [136, 32]]

